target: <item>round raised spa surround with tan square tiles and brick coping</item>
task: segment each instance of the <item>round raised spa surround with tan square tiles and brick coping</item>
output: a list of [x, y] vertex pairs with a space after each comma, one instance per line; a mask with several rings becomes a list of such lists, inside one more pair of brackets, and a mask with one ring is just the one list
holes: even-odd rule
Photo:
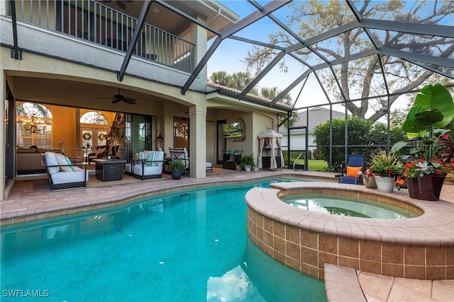
[[454, 279], [454, 204], [425, 202], [407, 194], [361, 186], [277, 184], [280, 190], [347, 190], [377, 193], [423, 209], [422, 216], [394, 221], [305, 211], [280, 202], [279, 190], [255, 188], [246, 195], [248, 235], [267, 255], [323, 280], [325, 263], [411, 279]]

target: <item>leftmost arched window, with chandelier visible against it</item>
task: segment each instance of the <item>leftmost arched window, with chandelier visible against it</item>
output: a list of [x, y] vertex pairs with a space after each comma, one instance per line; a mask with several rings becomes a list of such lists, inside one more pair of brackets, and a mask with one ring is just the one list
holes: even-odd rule
[[50, 149], [52, 147], [52, 114], [44, 105], [20, 103], [16, 106], [16, 144], [18, 147]]

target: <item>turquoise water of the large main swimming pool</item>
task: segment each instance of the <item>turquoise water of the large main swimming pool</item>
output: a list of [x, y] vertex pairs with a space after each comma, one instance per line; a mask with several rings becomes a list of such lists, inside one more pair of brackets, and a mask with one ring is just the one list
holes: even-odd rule
[[323, 282], [248, 239], [251, 187], [174, 192], [2, 227], [1, 301], [326, 301]]

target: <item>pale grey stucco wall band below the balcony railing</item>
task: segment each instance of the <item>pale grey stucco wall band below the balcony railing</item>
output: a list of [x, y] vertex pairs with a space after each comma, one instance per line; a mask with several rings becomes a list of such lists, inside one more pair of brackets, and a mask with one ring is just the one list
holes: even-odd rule
[[[1, 42], [5, 45], [13, 45], [13, 31], [11, 28], [11, 21], [4, 18], [0, 19]], [[110, 71], [115, 76], [124, 60], [123, 52], [52, 32], [45, 28], [38, 28], [21, 21], [18, 21], [18, 37], [20, 37], [19, 46], [24, 52], [29, 51], [45, 57]], [[52, 45], [58, 45], [58, 47], [52, 47]], [[206, 47], [206, 43], [201, 45], [201, 47]], [[175, 86], [183, 86], [189, 76], [184, 71], [172, 69], [169, 66], [135, 56], [131, 57], [126, 72], [140, 79], [148, 79]], [[206, 69], [201, 71], [192, 83], [191, 88], [196, 91], [206, 90]]]

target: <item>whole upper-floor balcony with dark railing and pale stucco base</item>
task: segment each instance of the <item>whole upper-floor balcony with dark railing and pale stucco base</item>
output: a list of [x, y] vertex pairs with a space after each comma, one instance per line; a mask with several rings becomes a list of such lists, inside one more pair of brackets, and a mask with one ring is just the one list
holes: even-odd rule
[[[140, 23], [145, 1], [13, 2], [20, 49], [118, 71]], [[231, 25], [236, 16], [229, 15], [229, 12], [220, 14], [218, 6], [225, 8], [217, 1], [169, 3], [153, 1], [151, 4], [138, 38], [133, 42], [128, 74], [178, 85], [194, 71], [197, 53], [206, 52], [206, 43], [197, 46], [195, 42], [201, 41], [200, 37], [206, 41], [214, 35], [210, 30], [197, 28], [187, 16], [210, 23], [214, 30]], [[9, 1], [6, 4], [6, 16], [12, 16]], [[1, 30], [2, 33], [11, 33], [12, 28], [11, 24], [4, 23]], [[2, 44], [13, 45], [13, 35], [4, 35]], [[156, 72], [156, 68], [160, 71]], [[206, 76], [200, 75], [200, 78], [204, 79], [199, 86], [206, 83]]]

